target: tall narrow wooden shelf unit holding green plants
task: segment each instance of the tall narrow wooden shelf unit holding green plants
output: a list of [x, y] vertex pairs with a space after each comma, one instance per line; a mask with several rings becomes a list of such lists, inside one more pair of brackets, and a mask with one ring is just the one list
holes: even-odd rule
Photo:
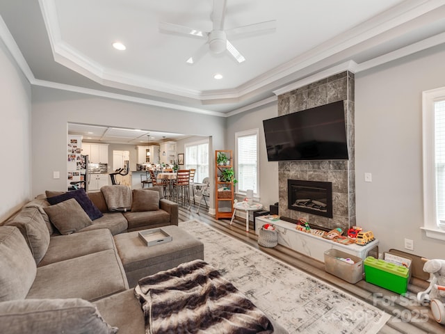
[[[229, 159], [228, 165], [218, 165], [218, 154], [225, 154]], [[234, 184], [233, 182], [218, 181], [218, 177], [221, 176], [223, 170], [233, 168], [233, 154], [232, 150], [216, 150], [215, 151], [215, 212], [216, 219], [220, 218], [232, 218], [234, 213]], [[224, 191], [218, 191], [218, 189], [227, 189]]]

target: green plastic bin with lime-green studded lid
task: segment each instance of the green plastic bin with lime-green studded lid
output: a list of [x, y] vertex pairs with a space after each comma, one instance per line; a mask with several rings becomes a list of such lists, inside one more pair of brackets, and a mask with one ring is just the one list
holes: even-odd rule
[[405, 294], [408, 288], [410, 269], [372, 256], [364, 260], [364, 278], [366, 282], [384, 287], [398, 294]]

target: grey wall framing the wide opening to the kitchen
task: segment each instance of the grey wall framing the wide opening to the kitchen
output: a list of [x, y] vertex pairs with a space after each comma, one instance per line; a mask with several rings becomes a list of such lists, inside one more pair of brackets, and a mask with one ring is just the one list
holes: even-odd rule
[[[33, 87], [33, 196], [65, 190], [67, 123], [213, 136], [223, 143], [225, 118]], [[178, 121], [180, 120], [180, 122]], [[52, 178], [60, 171], [60, 179]]]

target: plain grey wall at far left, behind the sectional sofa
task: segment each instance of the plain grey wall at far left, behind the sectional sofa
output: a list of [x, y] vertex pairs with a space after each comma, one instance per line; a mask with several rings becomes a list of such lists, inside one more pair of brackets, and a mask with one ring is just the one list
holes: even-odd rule
[[31, 198], [31, 85], [0, 40], [0, 221]]

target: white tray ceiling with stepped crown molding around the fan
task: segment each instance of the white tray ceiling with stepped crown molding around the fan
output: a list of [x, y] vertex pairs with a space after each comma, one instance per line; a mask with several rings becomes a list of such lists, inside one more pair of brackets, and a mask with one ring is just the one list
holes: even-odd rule
[[[217, 0], [221, 1], [221, 0]], [[190, 57], [205, 42], [160, 22], [212, 29], [211, 0], [0, 1], [0, 37], [31, 84], [230, 116], [321, 71], [360, 72], [445, 42], [445, 0], [227, 0], [224, 29], [245, 56]], [[113, 49], [116, 40], [127, 46]], [[213, 79], [213, 74], [223, 79]], [[275, 92], [275, 93], [274, 93]]]

